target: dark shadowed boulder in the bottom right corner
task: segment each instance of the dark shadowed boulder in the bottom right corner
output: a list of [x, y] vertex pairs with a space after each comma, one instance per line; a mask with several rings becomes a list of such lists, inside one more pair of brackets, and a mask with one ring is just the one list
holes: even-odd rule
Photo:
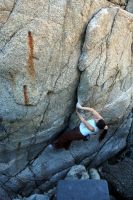
[[101, 175], [113, 187], [121, 199], [133, 199], [133, 160], [125, 159], [116, 165], [103, 167]]

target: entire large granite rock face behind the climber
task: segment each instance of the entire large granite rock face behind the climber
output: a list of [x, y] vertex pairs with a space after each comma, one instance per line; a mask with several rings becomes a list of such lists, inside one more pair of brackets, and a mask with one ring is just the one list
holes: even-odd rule
[[[75, 163], [95, 167], [126, 146], [132, 35], [133, 15], [111, 1], [0, 2], [2, 191], [11, 198], [47, 191]], [[100, 144], [96, 136], [69, 151], [47, 149], [61, 130], [77, 125], [77, 99], [105, 117], [109, 134]]]

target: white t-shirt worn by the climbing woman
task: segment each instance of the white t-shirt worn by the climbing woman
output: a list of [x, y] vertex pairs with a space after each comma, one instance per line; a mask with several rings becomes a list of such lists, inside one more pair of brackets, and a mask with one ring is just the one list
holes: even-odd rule
[[95, 129], [95, 131], [89, 130], [82, 122], [80, 123], [79, 129], [80, 133], [84, 136], [97, 134], [99, 132], [99, 128], [96, 126], [96, 122], [94, 119], [89, 119], [87, 122]]

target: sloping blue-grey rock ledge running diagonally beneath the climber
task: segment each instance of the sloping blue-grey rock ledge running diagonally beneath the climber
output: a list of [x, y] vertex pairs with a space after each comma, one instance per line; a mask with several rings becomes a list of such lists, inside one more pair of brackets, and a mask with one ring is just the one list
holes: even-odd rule
[[22, 196], [29, 196], [36, 188], [40, 192], [47, 192], [66, 176], [73, 165], [82, 163], [97, 166], [123, 149], [126, 146], [125, 140], [129, 135], [127, 131], [129, 127], [121, 128], [115, 132], [114, 136], [110, 137], [109, 134], [100, 144], [96, 137], [84, 142], [74, 142], [69, 151], [45, 148], [37, 159], [29, 163], [24, 170], [14, 177], [11, 178], [12, 175], [6, 172], [1, 180], [3, 187], [6, 190], [8, 188], [12, 198], [16, 195], [14, 191]]

